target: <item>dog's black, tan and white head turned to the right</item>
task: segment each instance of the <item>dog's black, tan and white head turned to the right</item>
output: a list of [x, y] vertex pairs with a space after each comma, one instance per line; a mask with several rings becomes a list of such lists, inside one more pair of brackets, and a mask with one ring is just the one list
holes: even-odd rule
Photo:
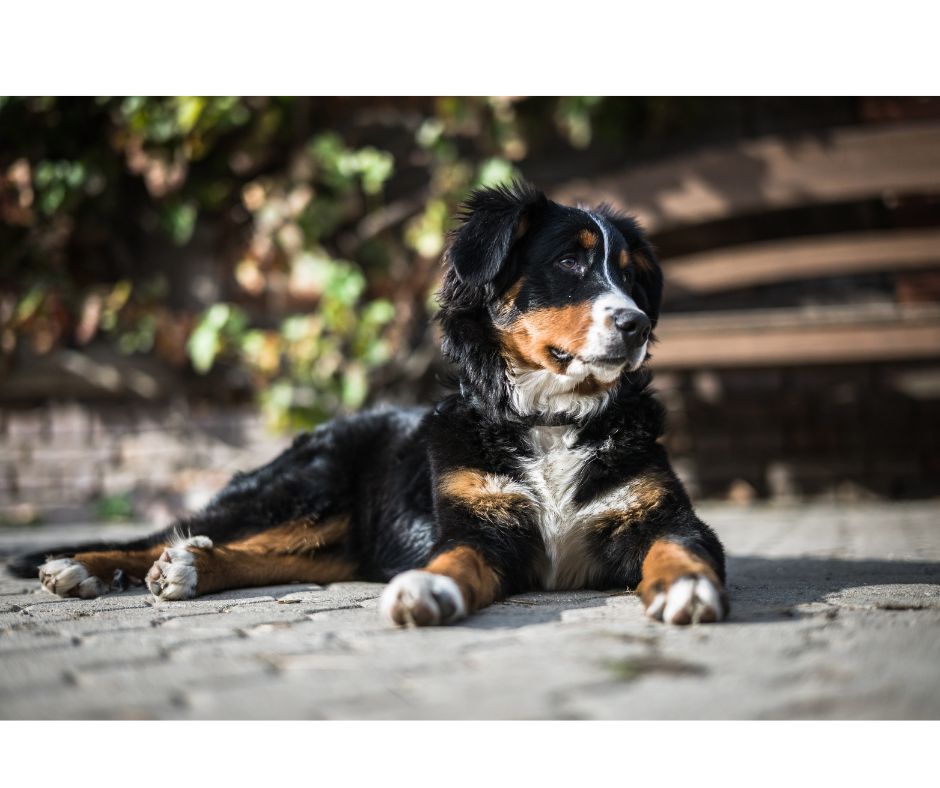
[[523, 184], [475, 192], [461, 218], [440, 293], [448, 356], [519, 415], [603, 407], [659, 317], [662, 273], [637, 223]]

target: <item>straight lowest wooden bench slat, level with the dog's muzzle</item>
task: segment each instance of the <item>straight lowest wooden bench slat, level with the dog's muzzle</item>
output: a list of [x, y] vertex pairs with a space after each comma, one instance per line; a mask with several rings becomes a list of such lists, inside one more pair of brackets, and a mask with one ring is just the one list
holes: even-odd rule
[[940, 359], [932, 307], [667, 315], [657, 335], [652, 363], [662, 370]]

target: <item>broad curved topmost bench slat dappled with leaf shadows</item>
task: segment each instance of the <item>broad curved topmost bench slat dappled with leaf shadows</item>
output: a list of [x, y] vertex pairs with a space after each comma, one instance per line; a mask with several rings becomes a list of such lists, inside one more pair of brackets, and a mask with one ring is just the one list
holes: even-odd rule
[[606, 200], [656, 232], [729, 216], [940, 188], [940, 123], [833, 129], [711, 148], [552, 190]]

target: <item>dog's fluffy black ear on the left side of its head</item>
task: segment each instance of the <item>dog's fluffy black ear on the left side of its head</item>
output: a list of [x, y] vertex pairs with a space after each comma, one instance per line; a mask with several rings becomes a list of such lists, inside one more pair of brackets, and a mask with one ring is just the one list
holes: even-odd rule
[[479, 189], [464, 202], [447, 259], [461, 282], [484, 285], [499, 274], [512, 245], [525, 235], [532, 211], [545, 195], [521, 181]]

